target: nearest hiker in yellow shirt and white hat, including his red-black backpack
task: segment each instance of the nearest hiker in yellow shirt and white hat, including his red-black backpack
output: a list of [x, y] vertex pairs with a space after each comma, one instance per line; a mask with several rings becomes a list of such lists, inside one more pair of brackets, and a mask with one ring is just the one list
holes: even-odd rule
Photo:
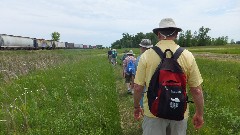
[[203, 79], [192, 53], [174, 42], [180, 31], [173, 19], [162, 19], [159, 28], [153, 29], [159, 42], [140, 57], [134, 80], [134, 117], [140, 119], [143, 113], [139, 102], [146, 85], [143, 135], [186, 135], [186, 84], [195, 104], [193, 125], [196, 129], [203, 126]]

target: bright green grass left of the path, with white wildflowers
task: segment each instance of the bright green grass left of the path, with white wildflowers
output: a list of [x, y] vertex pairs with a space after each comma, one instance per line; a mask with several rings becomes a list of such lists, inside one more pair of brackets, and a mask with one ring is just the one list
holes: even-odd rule
[[0, 134], [122, 134], [113, 68], [82, 54], [2, 85]]

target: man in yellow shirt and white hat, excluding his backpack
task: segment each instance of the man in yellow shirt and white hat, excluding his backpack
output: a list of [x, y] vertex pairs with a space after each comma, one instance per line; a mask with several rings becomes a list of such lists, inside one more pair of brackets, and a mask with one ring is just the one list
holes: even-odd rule
[[[176, 27], [175, 22], [171, 18], [162, 19], [159, 23], [159, 28], [153, 29], [153, 32], [158, 36], [159, 42], [156, 44], [162, 52], [170, 49], [173, 53], [180, 47], [174, 40], [177, 38], [178, 32], [181, 29]], [[169, 56], [168, 56], [169, 57]], [[154, 74], [157, 66], [161, 62], [159, 55], [153, 50], [145, 51], [138, 63], [138, 68], [135, 76], [135, 92], [134, 92], [134, 117], [139, 119], [143, 114], [140, 107], [141, 93], [143, 88], [149, 87], [151, 77]], [[195, 103], [195, 114], [193, 116], [193, 124], [196, 129], [202, 127], [203, 121], [203, 106], [204, 98], [202, 94], [201, 83], [203, 79], [199, 72], [195, 58], [191, 52], [184, 50], [177, 59], [177, 62], [183, 69], [187, 78], [187, 84], [190, 87], [190, 94]], [[168, 120], [155, 117], [150, 111], [148, 106], [147, 93], [144, 95], [144, 120], [142, 124], [143, 135], [185, 135], [187, 130], [188, 108], [185, 111], [184, 119], [180, 121]]]

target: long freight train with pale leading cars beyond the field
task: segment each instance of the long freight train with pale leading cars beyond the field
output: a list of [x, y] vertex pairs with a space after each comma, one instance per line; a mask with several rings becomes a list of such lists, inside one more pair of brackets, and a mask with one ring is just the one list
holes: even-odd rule
[[0, 34], [1, 49], [92, 49], [96, 46]]

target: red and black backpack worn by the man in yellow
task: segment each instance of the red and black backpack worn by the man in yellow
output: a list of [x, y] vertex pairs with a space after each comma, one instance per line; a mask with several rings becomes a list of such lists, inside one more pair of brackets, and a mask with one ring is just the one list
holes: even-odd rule
[[[149, 83], [147, 97], [150, 112], [159, 118], [183, 120], [187, 108], [186, 75], [177, 59], [183, 52], [179, 47], [173, 54], [170, 49], [164, 53], [157, 46], [152, 48], [161, 58]], [[166, 53], [171, 58], [166, 58]]]

